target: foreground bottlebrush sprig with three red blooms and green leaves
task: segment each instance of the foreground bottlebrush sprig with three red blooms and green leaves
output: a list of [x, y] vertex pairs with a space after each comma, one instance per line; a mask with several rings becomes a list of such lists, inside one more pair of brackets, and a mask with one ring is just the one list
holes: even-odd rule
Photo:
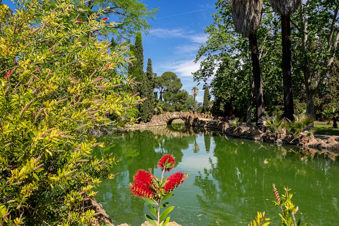
[[[161, 202], [173, 196], [172, 191], [189, 176], [187, 173], [177, 171], [168, 178], [164, 177], [164, 172], [172, 170], [174, 166], [175, 159], [173, 155], [164, 155], [158, 162], [158, 168], [162, 170], [161, 179], [154, 176], [151, 169], [148, 172], [139, 169], [133, 176], [134, 184], [129, 185], [135, 197], [138, 196], [148, 203], [149, 211], [157, 219], [157, 222], [147, 214], [145, 214], [145, 218], [153, 226], [159, 226], [162, 221], [164, 221], [162, 226], [165, 226], [169, 222], [170, 217], [167, 217], [167, 215], [174, 209], [174, 206], [167, 207], [168, 202], [163, 204]], [[152, 205], [155, 205], [156, 208]], [[160, 214], [160, 208], [165, 207], [167, 209], [163, 210]]]

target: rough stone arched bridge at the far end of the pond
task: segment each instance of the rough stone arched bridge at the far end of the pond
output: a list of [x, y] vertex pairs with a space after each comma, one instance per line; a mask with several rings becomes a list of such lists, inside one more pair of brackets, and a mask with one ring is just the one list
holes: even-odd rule
[[190, 112], [167, 112], [163, 115], [154, 115], [150, 122], [140, 122], [139, 124], [136, 124], [135, 127], [168, 125], [175, 119], [183, 120], [185, 125], [192, 125], [195, 118], [199, 118], [200, 120], [213, 119], [212, 115], [203, 113], [192, 114]]

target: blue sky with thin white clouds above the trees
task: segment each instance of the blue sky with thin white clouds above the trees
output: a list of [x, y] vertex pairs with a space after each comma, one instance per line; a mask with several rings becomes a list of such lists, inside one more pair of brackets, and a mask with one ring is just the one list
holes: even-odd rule
[[[13, 9], [10, 0], [2, 3]], [[152, 59], [153, 72], [161, 76], [166, 71], [175, 73], [189, 94], [192, 94], [192, 73], [199, 69], [199, 63], [194, 63], [195, 56], [207, 35], [203, 33], [206, 26], [213, 22], [211, 13], [216, 11], [214, 1], [207, 0], [144, 0], [142, 3], [148, 9], [159, 8], [155, 20], [148, 20], [153, 26], [149, 35], [143, 35], [144, 70], [148, 58]], [[134, 42], [134, 41], [133, 41]], [[203, 84], [198, 86], [198, 102], [203, 101]]]

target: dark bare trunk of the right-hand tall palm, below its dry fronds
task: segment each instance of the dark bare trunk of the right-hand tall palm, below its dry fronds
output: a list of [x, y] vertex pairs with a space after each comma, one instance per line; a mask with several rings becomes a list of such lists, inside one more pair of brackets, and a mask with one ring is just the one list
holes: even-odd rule
[[294, 104], [292, 91], [292, 56], [291, 56], [291, 25], [290, 15], [281, 15], [282, 36], [282, 81], [284, 89], [283, 117], [294, 120]]

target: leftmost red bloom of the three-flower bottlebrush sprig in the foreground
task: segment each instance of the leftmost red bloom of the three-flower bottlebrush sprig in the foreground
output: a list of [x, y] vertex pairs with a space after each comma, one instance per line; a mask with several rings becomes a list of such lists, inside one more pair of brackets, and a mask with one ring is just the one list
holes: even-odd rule
[[144, 169], [139, 169], [133, 176], [134, 184], [129, 185], [132, 194], [140, 198], [153, 198], [156, 195], [153, 189], [154, 176]]

